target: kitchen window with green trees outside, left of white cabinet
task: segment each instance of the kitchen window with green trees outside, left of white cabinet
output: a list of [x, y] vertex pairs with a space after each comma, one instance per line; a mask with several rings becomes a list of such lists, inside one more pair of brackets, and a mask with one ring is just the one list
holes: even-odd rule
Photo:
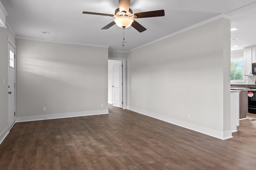
[[230, 61], [230, 82], [243, 83], [245, 82], [244, 77], [244, 58], [236, 57]]

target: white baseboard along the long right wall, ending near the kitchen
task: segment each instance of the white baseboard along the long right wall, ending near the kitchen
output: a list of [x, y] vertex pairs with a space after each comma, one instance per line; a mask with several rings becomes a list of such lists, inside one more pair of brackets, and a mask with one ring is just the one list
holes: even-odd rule
[[146, 115], [146, 116], [149, 116], [149, 117], [153, 117], [155, 119], [159, 119], [159, 120], [162, 120], [162, 121], [165, 121], [165, 122], [168, 122], [168, 123], [172, 123], [174, 125], [178, 125], [180, 127], [184, 127], [186, 129], [190, 129], [190, 130], [193, 130], [193, 131], [196, 131], [196, 132], [203, 133], [205, 135], [216, 137], [218, 139], [225, 140], [225, 139], [232, 138], [232, 132], [231, 131], [225, 131], [225, 132], [216, 131], [216, 130], [209, 129], [209, 128], [204, 127], [204, 126], [195, 125], [193, 123], [189, 123], [189, 122], [185, 122], [185, 121], [180, 121], [180, 120], [174, 119], [172, 117], [160, 115], [158, 113], [153, 113], [153, 112], [142, 110], [142, 109], [139, 109], [139, 108], [136, 108], [136, 107], [127, 106], [127, 109], [131, 110], [131, 111], [135, 111], [135, 112], [140, 113], [142, 115]]

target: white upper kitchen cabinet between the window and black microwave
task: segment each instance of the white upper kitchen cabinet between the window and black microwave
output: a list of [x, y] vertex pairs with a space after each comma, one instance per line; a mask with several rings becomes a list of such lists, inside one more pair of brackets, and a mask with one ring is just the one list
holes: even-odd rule
[[252, 76], [252, 49], [244, 49], [244, 76]]

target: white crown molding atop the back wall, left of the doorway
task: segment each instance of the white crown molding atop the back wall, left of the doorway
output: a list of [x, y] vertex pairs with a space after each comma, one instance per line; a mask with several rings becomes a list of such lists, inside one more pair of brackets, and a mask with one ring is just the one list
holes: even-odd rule
[[32, 41], [42, 41], [42, 42], [48, 42], [48, 43], [60, 43], [60, 44], [83, 45], [83, 46], [89, 46], [89, 47], [109, 48], [108, 45], [96, 45], [96, 44], [87, 44], [87, 43], [77, 43], [77, 42], [71, 42], [71, 41], [48, 41], [48, 40], [45, 40], [45, 39], [37, 39], [37, 38], [22, 37], [22, 36], [17, 36], [16, 38], [17, 39], [32, 40]]

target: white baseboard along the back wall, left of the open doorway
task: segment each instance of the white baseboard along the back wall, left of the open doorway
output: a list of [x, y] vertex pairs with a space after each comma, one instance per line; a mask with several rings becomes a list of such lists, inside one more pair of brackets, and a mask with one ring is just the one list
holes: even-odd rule
[[59, 113], [59, 114], [52, 114], [52, 115], [17, 117], [16, 122], [37, 121], [37, 120], [46, 120], [46, 119], [61, 119], [61, 118], [67, 118], [67, 117], [80, 117], [80, 116], [104, 115], [104, 114], [108, 114], [108, 110], [81, 111], [81, 112], [74, 112], [74, 113]]

